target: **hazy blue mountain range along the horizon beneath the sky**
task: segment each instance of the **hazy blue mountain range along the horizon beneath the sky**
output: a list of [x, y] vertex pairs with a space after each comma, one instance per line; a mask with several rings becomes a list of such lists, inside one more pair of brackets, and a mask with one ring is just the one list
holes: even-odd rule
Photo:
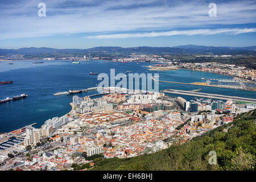
[[212, 53], [212, 54], [249, 54], [256, 53], [256, 46], [250, 47], [213, 47], [213, 46], [175, 46], [175, 47], [94, 47], [88, 49], [55, 49], [47, 47], [30, 47], [20, 49], [0, 49], [0, 55], [88, 55], [89, 52], [92, 56], [104, 55], [130, 55], [135, 54], [191, 54], [191, 53]]

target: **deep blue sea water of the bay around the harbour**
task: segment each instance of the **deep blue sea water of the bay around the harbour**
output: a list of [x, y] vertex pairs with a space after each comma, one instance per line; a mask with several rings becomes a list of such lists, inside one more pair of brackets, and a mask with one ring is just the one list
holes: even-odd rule
[[[33, 60], [35, 61], [35, 60]], [[36, 60], [40, 61], [40, 60]], [[159, 73], [159, 80], [177, 82], [200, 82], [201, 78], [227, 78], [213, 73], [177, 70], [177, 71], [147, 71], [144, 67], [149, 63], [105, 63], [105, 61], [45, 61], [43, 64], [32, 64], [32, 61], [11, 61], [13, 65], [0, 63], [0, 80], [13, 80], [13, 84], [0, 85], [0, 98], [13, 97], [21, 93], [28, 94], [22, 100], [10, 101], [0, 104], [0, 132], [9, 132], [20, 127], [37, 123], [35, 127], [43, 125], [44, 121], [52, 117], [60, 117], [71, 110], [69, 103], [72, 95], [53, 96], [56, 92], [65, 92], [69, 89], [85, 89], [95, 87], [101, 81], [97, 75], [89, 72], [110, 74], [110, 68], [117, 73]], [[117, 81], [118, 82], [118, 81]], [[255, 92], [246, 90], [211, 88], [206, 86], [170, 84], [159, 82], [159, 90], [163, 89], [193, 90], [201, 88], [200, 92], [216, 93], [228, 96], [255, 98]], [[96, 94], [96, 90], [80, 93], [78, 96]], [[172, 96], [177, 96], [172, 94]], [[181, 96], [191, 100], [191, 96]]]

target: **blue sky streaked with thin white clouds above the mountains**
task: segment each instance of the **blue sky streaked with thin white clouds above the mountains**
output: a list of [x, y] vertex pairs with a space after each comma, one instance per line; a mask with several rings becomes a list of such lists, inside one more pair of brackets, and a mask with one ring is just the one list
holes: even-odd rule
[[0, 48], [256, 46], [256, 1], [0, 0], [0, 17]]

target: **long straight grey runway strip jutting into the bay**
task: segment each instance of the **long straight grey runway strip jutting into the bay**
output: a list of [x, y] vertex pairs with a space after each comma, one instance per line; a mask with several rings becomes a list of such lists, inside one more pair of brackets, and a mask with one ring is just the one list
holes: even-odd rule
[[215, 98], [215, 99], [220, 99], [220, 100], [235, 100], [235, 101], [256, 103], [256, 99], [254, 99], [254, 98], [224, 96], [224, 95], [220, 95], [220, 94], [191, 92], [191, 91], [186, 91], [186, 90], [166, 89], [166, 90], [161, 90], [160, 92], [181, 94], [181, 95], [187, 95], [187, 96], [196, 96], [196, 97]]

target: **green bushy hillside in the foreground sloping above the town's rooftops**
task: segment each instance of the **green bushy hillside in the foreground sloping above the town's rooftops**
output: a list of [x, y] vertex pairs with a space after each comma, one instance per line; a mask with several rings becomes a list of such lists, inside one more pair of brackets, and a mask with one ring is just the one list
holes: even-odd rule
[[[234, 118], [184, 144], [127, 159], [97, 159], [93, 170], [255, 170], [256, 110]], [[227, 129], [228, 132], [223, 130]], [[209, 151], [216, 151], [217, 164], [210, 165]]]

